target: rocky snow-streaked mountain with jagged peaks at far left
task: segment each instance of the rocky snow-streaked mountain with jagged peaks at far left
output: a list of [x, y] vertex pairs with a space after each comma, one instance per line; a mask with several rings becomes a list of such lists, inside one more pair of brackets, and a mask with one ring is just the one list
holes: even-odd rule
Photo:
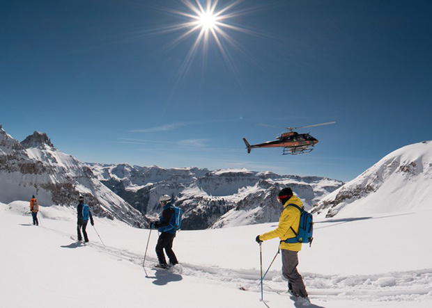
[[96, 216], [143, 225], [139, 211], [100, 183], [88, 166], [56, 149], [45, 133], [35, 131], [20, 143], [0, 125], [0, 202], [36, 195], [42, 206], [75, 206], [80, 194]]

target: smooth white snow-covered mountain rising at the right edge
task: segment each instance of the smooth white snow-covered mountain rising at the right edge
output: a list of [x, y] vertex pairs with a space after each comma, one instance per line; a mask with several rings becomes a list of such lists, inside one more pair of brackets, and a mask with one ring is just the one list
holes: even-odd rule
[[313, 212], [326, 217], [430, 208], [432, 141], [388, 154], [361, 175], [323, 197]]

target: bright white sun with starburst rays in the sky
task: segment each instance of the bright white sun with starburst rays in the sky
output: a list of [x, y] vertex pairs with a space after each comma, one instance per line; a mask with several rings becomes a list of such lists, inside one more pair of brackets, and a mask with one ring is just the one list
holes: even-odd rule
[[244, 1], [232, 0], [222, 5], [219, 0], [179, 0], [183, 9], [167, 9], [170, 15], [180, 19], [180, 22], [164, 26], [157, 31], [179, 32], [167, 47], [172, 48], [184, 42], [191, 44], [179, 67], [180, 79], [185, 76], [198, 56], [201, 56], [201, 63], [206, 67], [206, 63], [212, 59], [208, 54], [213, 47], [219, 51], [229, 70], [236, 74], [236, 65], [229, 50], [240, 51], [244, 55], [247, 55], [247, 51], [240, 46], [238, 38], [233, 37], [238, 33], [259, 35], [250, 27], [245, 28], [235, 22], [236, 17], [254, 12], [255, 8], [251, 6], [239, 8], [240, 3]]

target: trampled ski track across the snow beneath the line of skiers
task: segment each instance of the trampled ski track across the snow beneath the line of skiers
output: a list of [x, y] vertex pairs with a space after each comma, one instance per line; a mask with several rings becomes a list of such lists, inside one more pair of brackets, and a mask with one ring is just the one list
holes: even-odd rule
[[[43, 227], [43, 226], [42, 226]], [[75, 238], [71, 234], [56, 229], [52, 232]], [[130, 261], [142, 268], [144, 255], [122, 250], [102, 243], [89, 242], [88, 246], [118, 261]], [[145, 272], [154, 273], [154, 257], [146, 257]], [[263, 268], [265, 270], [265, 268]], [[197, 266], [178, 264], [167, 271], [175, 275], [186, 275], [206, 279], [209, 283], [231, 286], [236, 289], [257, 292], [261, 291], [259, 270], [228, 269], [219, 266]], [[421, 302], [432, 296], [432, 268], [405, 272], [390, 272], [381, 275], [320, 275], [302, 273], [311, 300], [362, 300], [365, 302]], [[278, 270], [270, 270], [263, 281], [265, 293], [288, 295], [287, 282]]]

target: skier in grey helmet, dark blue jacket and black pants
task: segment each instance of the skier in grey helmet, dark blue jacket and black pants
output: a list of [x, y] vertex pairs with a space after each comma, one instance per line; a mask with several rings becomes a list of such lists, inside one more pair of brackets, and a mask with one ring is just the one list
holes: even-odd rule
[[[151, 223], [152, 228], [157, 228], [160, 232], [159, 239], [156, 244], [156, 254], [159, 264], [155, 267], [157, 268], [170, 268], [173, 265], [178, 264], [176, 254], [173, 252], [173, 241], [176, 237], [176, 215], [175, 211], [171, 205], [171, 197], [169, 195], [162, 195], [159, 198], [160, 206], [162, 206], [163, 211], [159, 216], [159, 221], [154, 221]], [[165, 252], [169, 258], [169, 265], [165, 259]]]

